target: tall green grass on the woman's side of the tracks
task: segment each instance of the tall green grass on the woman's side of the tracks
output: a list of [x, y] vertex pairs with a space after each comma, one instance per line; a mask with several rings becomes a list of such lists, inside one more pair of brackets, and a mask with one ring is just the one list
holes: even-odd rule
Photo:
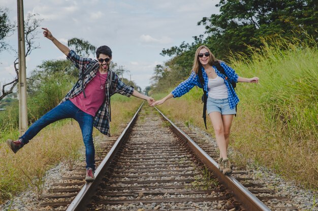
[[[265, 165], [287, 180], [317, 189], [317, 45], [309, 47], [297, 39], [272, 42], [272, 47], [264, 41], [264, 48], [253, 49], [250, 60], [245, 55], [231, 59], [230, 66], [238, 75], [260, 78], [259, 84], [238, 83], [240, 102], [230, 138], [235, 152], [232, 158], [241, 166], [249, 161]], [[201, 95], [202, 90], [194, 88], [158, 108], [170, 118], [205, 130]], [[210, 121], [208, 132], [214, 134]]]

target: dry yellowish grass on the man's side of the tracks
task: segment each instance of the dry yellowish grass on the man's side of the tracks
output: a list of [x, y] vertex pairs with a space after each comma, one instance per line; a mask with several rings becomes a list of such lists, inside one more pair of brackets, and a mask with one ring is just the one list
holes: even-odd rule
[[[118, 134], [119, 124], [133, 116], [141, 100], [115, 95], [111, 103], [111, 133]], [[93, 135], [97, 134], [100, 133], [94, 129]], [[41, 197], [46, 171], [61, 161], [72, 168], [82, 147], [78, 123], [74, 120], [72, 124], [70, 119], [50, 124], [16, 154], [5, 143], [1, 144], [0, 203], [29, 187]]]

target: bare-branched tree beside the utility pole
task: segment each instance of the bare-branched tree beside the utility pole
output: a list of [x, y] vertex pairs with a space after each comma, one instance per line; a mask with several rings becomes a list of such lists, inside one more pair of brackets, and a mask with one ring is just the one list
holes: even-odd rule
[[[38, 14], [28, 14], [26, 21], [24, 21], [24, 36], [25, 36], [25, 44], [26, 44], [26, 52], [25, 57], [31, 54], [31, 52], [35, 49], [38, 49], [40, 46], [35, 44], [35, 40], [37, 39], [38, 27], [41, 24], [42, 19], [37, 18]], [[15, 50], [18, 55], [17, 50]], [[2, 93], [0, 95], [0, 101], [10, 95], [13, 92], [14, 87], [17, 85], [19, 81], [19, 58], [18, 56], [14, 60], [14, 70], [16, 72], [16, 77], [11, 81], [2, 86]]]

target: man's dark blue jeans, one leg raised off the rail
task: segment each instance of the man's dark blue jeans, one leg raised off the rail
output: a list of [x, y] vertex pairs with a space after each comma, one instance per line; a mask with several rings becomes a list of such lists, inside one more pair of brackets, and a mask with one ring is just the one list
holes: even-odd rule
[[59, 119], [65, 118], [74, 118], [78, 122], [85, 145], [86, 168], [91, 167], [94, 171], [95, 149], [92, 137], [94, 117], [80, 110], [70, 100], [62, 102], [44, 114], [44, 116], [35, 121], [20, 138], [24, 144], [27, 144], [29, 140], [33, 139], [33, 137], [35, 137], [47, 125]]

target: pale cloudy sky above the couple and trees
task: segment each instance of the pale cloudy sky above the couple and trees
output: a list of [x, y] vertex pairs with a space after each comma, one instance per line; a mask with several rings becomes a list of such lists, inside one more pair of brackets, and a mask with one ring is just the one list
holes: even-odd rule
[[[203, 17], [217, 14], [218, 0], [27, 0], [24, 19], [28, 13], [39, 14], [41, 27], [48, 28], [62, 44], [70, 38], [81, 38], [90, 44], [109, 46], [112, 61], [122, 65], [131, 78], [145, 89], [151, 83], [155, 65], [164, 64], [168, 56], [163, 49], [179, 46], [182, 41], [192, 43], [193, 36], [204, 33], [197, 23]], [[0, 0], [0, 7], [9, 9], [9, 19], [17, 22], [17, 1]], [[18, 49], [17, 30], [6, 38], [13, 49]], [[45, 38], [39, 28], [34, 50], [26, 58], [26, 75], [45, 60], [66, 58]], [[15, 52], [0, 52], [0, 82], [15, 76]], [[96, 55], [90, 55], [96, 58]], [[189, 67], [191, 68], [191, 67]], [[190, 69], [189, 69], [190, 71]]]

